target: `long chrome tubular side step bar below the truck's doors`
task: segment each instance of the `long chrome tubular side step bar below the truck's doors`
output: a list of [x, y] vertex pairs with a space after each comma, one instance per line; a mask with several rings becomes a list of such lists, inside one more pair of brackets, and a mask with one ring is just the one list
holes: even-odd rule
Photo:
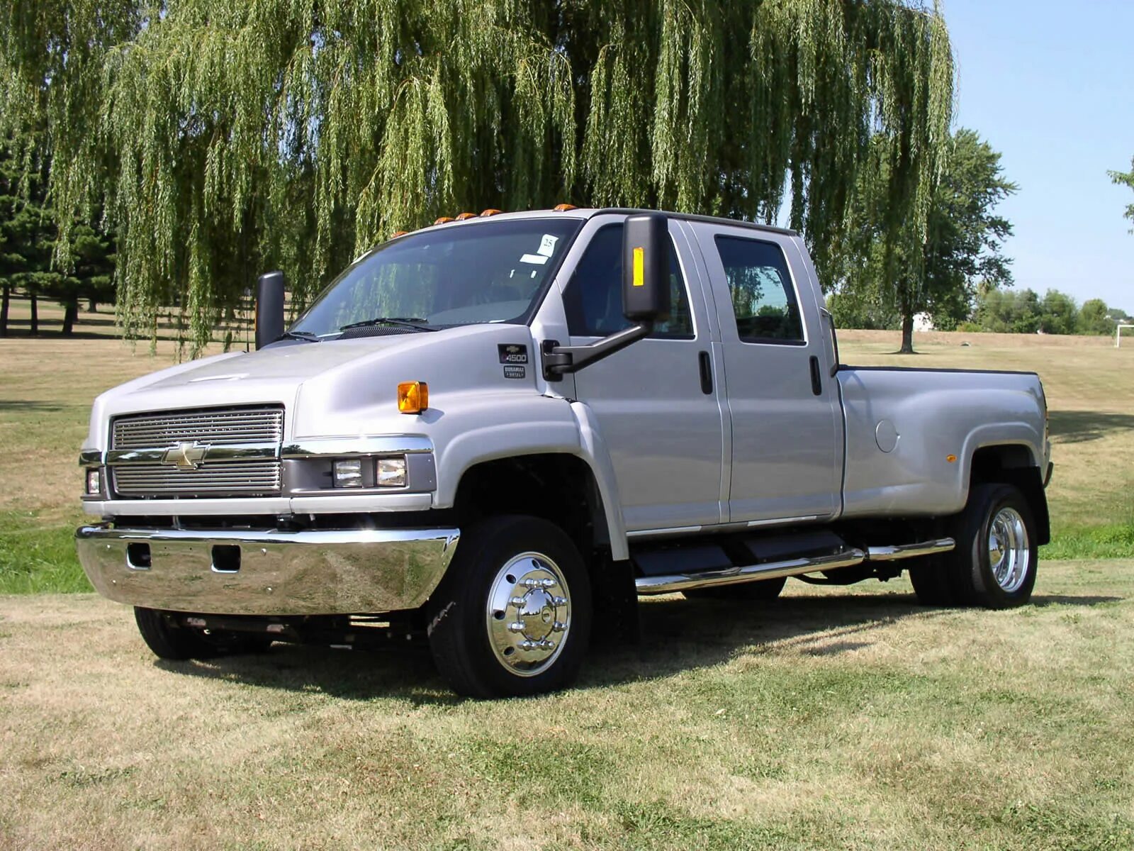
[[640, 595], [672, 593], [674, 591], [692, 591], [695, 588], [716, 588], [719, 585], [736, 585], [743, 582], [755, 582], [762, 579], [779, 579], [780, 576], [797, 576], [801, 573], [814, 571], [833, 571], [839, 567], [853, 567], [863, 562], [894, 562], [899, 558], [914, 558], [933, 553], [947, 553], [956, 546], [953, 538], [939, 538], [920, 544], [904, 544], [892, 547], [847, 547], [838, 553], [811, 558], [788, 558], [781, 562], [765, 562], [746, 567], [727, 567], [721, 571], [703, 571], [699, 573], [679, 573], [669, 576], [638, 576], [634, 580]]

